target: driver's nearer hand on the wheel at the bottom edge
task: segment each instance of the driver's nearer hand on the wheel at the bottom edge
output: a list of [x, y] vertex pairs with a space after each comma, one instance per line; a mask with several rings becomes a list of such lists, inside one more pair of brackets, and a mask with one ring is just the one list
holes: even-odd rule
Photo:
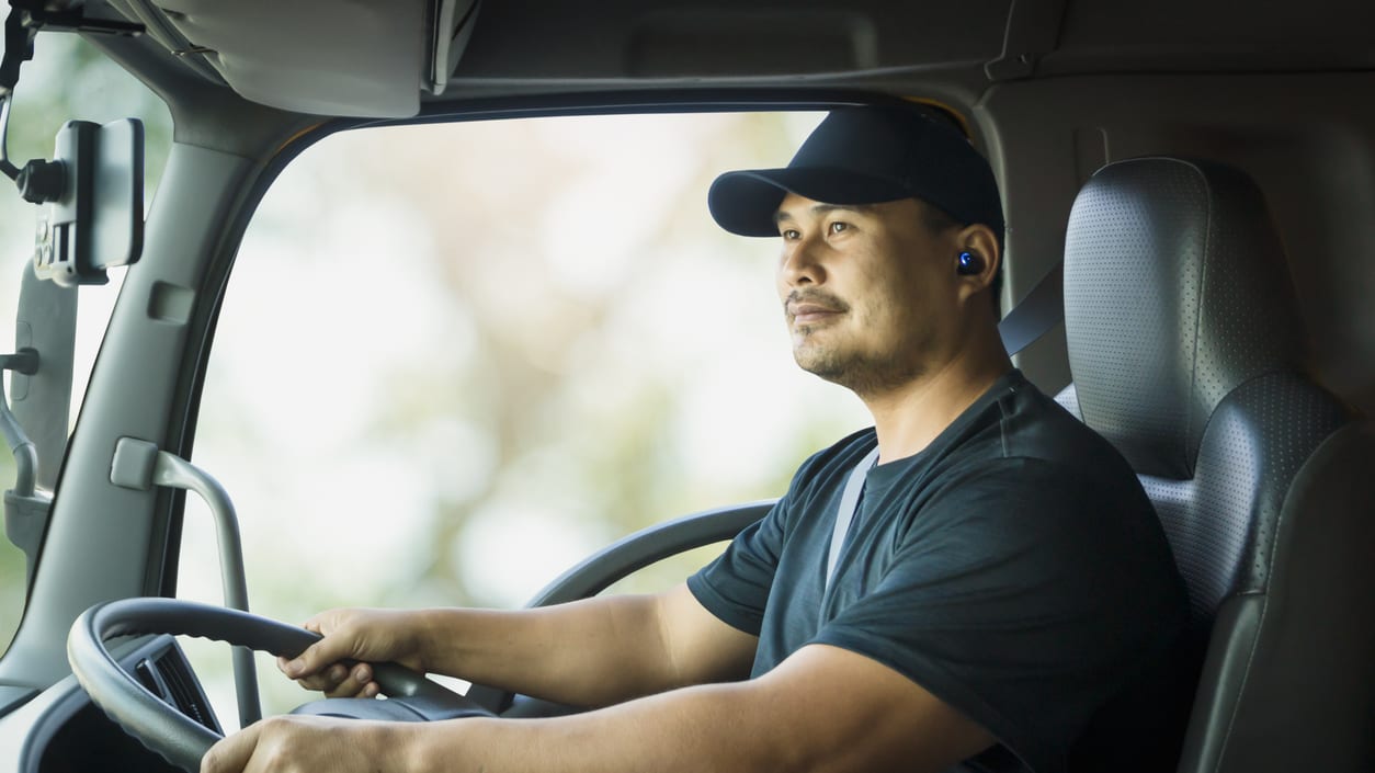
[[408, 725], [333, 717], [274, 717], [210, 747], [201, 773], [399, 770]]

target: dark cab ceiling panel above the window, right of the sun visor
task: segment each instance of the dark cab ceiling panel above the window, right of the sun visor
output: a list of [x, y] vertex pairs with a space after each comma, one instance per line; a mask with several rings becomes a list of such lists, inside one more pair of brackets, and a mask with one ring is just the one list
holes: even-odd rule
[[451, 83], [1370, 69], [1372, 23], [1364, 0], [503, 0]]

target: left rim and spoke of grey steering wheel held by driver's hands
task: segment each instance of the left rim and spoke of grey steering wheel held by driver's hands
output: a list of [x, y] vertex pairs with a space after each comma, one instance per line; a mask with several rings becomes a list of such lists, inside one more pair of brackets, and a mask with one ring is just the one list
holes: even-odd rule
[[[77, 681], [111, 719], [187, 770], [199, 769], [201, 758], [221, 736], [164, 703], [116, 663], [106, 640], [131, 634], [192, 635], [286, 657], [320, 640], [316, 633], [268, 618], [176, 598], [124, 598], [82, 612], [67, 634], [67, 660]], [[390, 700], [327, 699], [297, 712], [402, 721], [491, 715], [397, 663], [377, 663], [373, 674]]]

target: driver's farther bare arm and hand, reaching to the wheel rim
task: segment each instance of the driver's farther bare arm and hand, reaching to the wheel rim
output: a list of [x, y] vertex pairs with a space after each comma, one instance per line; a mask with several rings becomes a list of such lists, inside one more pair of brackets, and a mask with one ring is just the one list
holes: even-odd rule
[[[400, 660], [573, 706], [608, 706], [666, 689], [748, 675], [758, 640], [716, 619], [679, 585], [521, 611], [342, 609], [307, 627], [324, 638], [287, 675], [330, 695], [371, 695], [366, 664]], [[297, 668], [298, 666], [298, 668]]]

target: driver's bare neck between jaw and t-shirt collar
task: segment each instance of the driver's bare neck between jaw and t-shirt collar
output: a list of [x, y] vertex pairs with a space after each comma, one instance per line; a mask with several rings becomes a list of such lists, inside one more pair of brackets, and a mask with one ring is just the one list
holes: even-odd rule
[[957, 356], [901, 388], [862, 396], [879, 435], [880, 464], [924, 450], [1011, 369], [1000, 344]]

